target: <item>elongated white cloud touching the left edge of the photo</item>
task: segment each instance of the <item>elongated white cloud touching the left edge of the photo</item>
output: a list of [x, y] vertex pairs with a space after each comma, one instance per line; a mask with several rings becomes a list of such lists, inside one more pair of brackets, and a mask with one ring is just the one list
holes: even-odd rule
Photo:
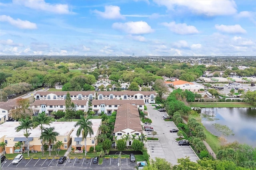
[[20, 19], [14, 20], [12, 17], [6, 16], [6, 15], [1, 15], [0, 21], [8, 22], [9, 24], [16, 26], [20, 29], [37, 29], [35, 23], [29, 22], [27, 20], [20, 20]]

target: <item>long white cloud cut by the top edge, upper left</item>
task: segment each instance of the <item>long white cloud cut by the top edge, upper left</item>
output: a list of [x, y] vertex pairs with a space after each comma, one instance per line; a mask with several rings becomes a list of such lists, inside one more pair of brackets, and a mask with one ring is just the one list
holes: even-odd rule
[[44, 0], [12, 0], [14, 4], [24, 5], [35, 10], [42, 10], [56, 14], [72, 14], [67, 4], [50, 4]]

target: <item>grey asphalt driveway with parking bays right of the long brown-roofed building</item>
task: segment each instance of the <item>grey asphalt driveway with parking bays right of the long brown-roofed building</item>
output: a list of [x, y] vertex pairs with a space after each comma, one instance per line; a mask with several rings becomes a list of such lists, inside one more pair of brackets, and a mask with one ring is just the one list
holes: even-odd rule
[[[175, 138], [178, 138], [177, 133], [171, 133], [170, 129], [177, 127], [172, 121], [162, 119], [162, 114], [166, 112], [159, 112], [151, 105], [147, 105], [147, 108], [148, 117], [152, 120], [150, 126], [154, 127], [154, 131], [157, 132], [154, 137], [159, 138], [159, 141], [148, 141], [151, 158], [165, 158], [173, 165], [178, 164], [178, 158], [185, 158], [186, 156], [189, 156], [193, 162], [199, 160], [190, 146], [179, 146], [178, 142], [175, 141]], [[146, 135], [152, 137], [151, 132], [146, 132]]]

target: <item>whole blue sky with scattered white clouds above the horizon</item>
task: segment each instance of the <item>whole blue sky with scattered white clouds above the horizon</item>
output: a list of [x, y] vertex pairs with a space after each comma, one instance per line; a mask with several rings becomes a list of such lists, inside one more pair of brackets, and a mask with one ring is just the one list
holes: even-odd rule
[[1, 0], [0, 55], [256, 55], [255, 0]]

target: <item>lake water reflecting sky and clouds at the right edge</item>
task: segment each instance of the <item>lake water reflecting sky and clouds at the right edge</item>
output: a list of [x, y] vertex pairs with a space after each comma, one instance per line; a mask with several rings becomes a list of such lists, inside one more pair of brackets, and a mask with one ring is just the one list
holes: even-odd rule
[[[252, 108], [203, 108], [201, 113], [213, 115], [216, 120], [202, 119], [206, 129], [216, 136], [223, 136], [227, 142], [245, 143], [256, 147], [256, 109]], [[224, 136], [216, 130], [214, 123], [226, 125], [234, 135]]]

